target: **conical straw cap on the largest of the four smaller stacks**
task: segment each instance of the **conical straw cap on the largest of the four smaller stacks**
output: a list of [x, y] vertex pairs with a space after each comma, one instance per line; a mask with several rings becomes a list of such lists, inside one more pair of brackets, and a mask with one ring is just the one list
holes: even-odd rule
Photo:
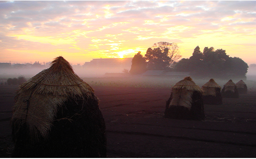
[[192, 81], [191, 77], [185, 77], [183, 80], [177, 82], [172, 89], [185, 89], [203, 93], [203, 90]]

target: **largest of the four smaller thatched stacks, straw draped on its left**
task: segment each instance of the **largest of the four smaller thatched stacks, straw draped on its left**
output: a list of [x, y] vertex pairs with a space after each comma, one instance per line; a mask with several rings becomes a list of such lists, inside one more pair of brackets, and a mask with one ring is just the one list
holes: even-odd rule
[[191, 77], [185, 77], [176, 83], [170, 98], [166, 101], [165, 118], [204, 120], [203, 90]]

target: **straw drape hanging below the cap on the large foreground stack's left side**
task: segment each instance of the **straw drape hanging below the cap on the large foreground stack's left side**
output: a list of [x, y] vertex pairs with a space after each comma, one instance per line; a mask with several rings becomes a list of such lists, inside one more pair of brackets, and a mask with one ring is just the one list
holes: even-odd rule
[[[12, 118], [20, 119], [16, 122], [26, 121], [31, 140], [35, 141], [39, 134], [46, 137], [52, 127], [58, 105], [63, 104], [64, 98], [61, 96], [45, 97], [45, 95], [40, 94], [32, 95], [32, 92], [23, 92], [16, 98], [17, 101], [13, 106], [15, 112]], [[28, 99], [29, 101], [27, 101]]]

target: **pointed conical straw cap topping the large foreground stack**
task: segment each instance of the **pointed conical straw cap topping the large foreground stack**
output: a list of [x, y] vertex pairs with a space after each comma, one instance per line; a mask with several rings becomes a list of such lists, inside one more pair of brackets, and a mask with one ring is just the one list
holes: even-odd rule
[[20, 86], [19, 91], [33, 90], [34, 94], [64, 97], [92, 97], [93, 89], [73, 71], [72, 66], [63, 58], [57, 57], [48, 69], [44, 69], [28, 82]]

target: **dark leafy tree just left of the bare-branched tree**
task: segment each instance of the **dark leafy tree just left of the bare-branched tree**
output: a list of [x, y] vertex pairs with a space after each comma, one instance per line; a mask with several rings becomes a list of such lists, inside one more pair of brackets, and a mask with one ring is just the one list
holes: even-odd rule
[[169, 67], [170, 57], [168, 57], [168, 48], [163, 51], [158, 48], [148, 48], [145, 59], [148, 61], [149, 70], [163, 70]]

